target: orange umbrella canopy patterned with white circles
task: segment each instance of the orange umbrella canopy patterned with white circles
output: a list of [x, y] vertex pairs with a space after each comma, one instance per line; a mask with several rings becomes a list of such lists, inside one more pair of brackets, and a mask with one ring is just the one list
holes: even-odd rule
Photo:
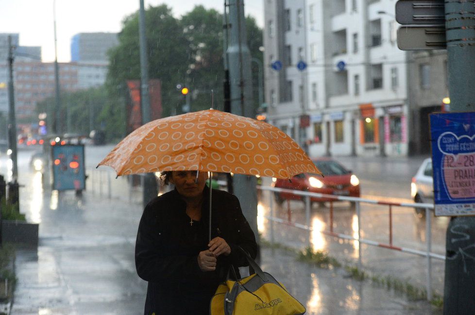
[[102, 160], [117, 175], [200, 170], [290, 179], [321, 174], [286, 133], [263, 121], [205, 110], [151, 121]]

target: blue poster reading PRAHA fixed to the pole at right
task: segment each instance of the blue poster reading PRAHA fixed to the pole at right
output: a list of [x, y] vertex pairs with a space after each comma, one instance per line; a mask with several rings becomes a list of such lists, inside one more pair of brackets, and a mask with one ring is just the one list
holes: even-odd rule
[[430, 114], [436, 216], [475, 216], [475, 113]]

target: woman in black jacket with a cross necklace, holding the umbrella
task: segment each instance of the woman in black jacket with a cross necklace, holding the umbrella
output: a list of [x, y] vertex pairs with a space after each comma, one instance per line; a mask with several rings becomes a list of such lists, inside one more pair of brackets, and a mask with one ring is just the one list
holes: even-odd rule
[[213, 190], [209, 241], [206, 173], [171, 171], [161, 177], [175, 189], [145, 207], [136, 240], [137, 273], [149, 282], [144, 314], [208, 315], [229, 266], [247, 265], [237, 247], [255, 257], [254, 233], [236, 196]]

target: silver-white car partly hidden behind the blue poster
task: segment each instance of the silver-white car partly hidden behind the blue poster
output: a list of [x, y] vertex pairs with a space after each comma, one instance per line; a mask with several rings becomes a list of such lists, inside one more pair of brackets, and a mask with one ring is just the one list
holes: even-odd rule
[[[434, 203], [434, 180], [432, 159], [425, 159], [411, 181], [411, 198], [414, 202]], [[422, 208], [414, 208], [418, 215], [424, 215]]]

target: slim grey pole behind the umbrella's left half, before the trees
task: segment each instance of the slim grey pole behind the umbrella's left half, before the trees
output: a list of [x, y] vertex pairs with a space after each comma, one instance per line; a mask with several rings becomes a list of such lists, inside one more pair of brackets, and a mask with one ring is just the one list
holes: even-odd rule
[[[145, 36], [145, 8], [143, 0], [140, 0], [140, 10], [138, 16], [138, 33], [140, 41], [140, 102], [142, 109], [142, 124], [151, 120], [150, 117], [150, 95], [149, 95], [149, 60], [147, 56], [147, 37]], [[146, 173], [143, 176], [142, 202], [145, 206], [157, 196], [157, 181], [153, 173]]]

